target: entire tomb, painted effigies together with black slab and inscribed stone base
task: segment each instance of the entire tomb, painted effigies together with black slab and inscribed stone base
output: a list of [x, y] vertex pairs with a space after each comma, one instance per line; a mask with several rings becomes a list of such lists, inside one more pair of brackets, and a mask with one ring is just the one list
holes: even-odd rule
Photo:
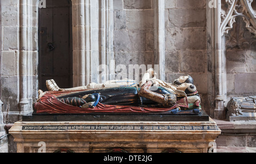
[[17, 152], [212, 152], [221, 131], [201, 110], [192, 77], [174, 84], [153, 78], [40, 93], [10, 133]]

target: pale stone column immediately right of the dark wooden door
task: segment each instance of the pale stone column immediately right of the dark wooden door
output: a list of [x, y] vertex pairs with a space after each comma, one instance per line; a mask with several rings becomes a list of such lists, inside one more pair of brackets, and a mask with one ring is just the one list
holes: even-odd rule
[[[75, 86], [85, 85], [90, 81], [88, 76], [90, 64], [90, 1], [72, 1], [73, 25], [73, 71]], [[86, 72], [88, 71], [88, 72]]]

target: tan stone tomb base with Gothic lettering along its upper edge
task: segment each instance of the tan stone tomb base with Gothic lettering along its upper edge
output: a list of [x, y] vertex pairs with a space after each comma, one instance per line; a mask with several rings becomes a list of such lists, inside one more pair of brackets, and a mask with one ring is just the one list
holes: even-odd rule
[[[208, 152], [221, 131], [206, 122], [16, 122], [10, 130], [17, 152], [129, 153]], [[44, 149], [45, 146], [45, 149]]]

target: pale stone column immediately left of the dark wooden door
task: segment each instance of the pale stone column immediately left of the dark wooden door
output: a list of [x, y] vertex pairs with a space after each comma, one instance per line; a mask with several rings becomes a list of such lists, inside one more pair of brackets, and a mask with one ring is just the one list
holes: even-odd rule
[[32, 0], [18, 1], [19, 113], [32, 112]]

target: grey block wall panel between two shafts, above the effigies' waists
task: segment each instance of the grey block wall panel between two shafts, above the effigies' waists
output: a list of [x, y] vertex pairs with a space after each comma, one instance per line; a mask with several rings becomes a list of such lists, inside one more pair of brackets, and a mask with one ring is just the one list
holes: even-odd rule
[[[154, 64], [154, 10], [151, 0], [115, 0], [114, 16], [116, 66], [123, 64], [127, 71], [129, 71], [129, 64], [139, 66], [143, 64], [146, 67], [151, 64], [152, 67]], [[116, 74], [122, 72], [118, 67], [115, 71]]]

